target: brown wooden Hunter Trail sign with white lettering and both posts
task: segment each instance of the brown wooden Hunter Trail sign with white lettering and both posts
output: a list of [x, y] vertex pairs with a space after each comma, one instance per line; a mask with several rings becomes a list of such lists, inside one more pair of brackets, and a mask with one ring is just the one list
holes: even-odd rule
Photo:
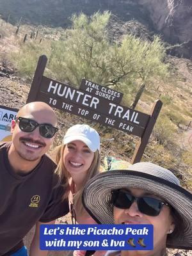
[[47, 63], [40, 56], [36, 67], [28, 102], [43, 101], [68, 113], [84, 117], [102, 125], [140, 137], [132, 163], [139, 162], [161, 110], [157, 100], [150, 115], [120, 105], [123, 94], [92, 81], [82, 79], [79, 89], [44, 76]]

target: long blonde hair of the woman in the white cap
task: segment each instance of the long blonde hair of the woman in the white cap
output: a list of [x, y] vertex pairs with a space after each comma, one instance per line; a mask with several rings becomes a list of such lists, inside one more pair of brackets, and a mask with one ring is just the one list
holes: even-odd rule
[[[68, 198], [68, 194], [70, 191], [70, 187], [68, 183], [68, 180], [70, 179], [70, 173], [68, 173], [63, 163], [63, 153], [65, 150], [65, 147], [66, 145], [62, 144], [56, 147], [56, 150], [54, 150], [56, 154], [55, 161], [57, 164], [55, 173], [57, 173], [59, 176], [59, 184], [61, 184], [63, 186], [63, 189], [65, 190], [65, 193], [63, 194], [63, 199]], [[86, 178], [83, 180], [82, 187], [81, 189], [79, 189], [79, 191], [77, 191], [76, 195], [74, 195], [74, 198], [73, 198], [73, 204], [74, 204], [74, 208], [76, 209], [76, 214], [83, 214], [86, 212], [82, 204], [83, 189], [84, 189], [84, 186], [86, 185], [86, 182], [88, 182], [88, 180], [92, 179], [97, 173], [99, 173], [99, 168], [100, 168], [100, 154], [99, 154], [99, 150], [97, 150], [94, 153], [93, 161], [88, 170]]]

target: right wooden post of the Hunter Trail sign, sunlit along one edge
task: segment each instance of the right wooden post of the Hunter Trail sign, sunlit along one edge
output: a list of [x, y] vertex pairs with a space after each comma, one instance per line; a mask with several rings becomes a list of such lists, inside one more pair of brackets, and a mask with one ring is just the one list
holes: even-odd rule
[[163, 103], [161, 102], [161, 100], [156, 100], [156, 102], [154, 103], [154, 106], [150, 113], [150, 119], [148, 120], [147, 127], [145, 128], [143, 136], [140, 138], [140, 141], [138, 142], [138, 145], [134, 150], [134, 154], [131, 159], [131, 164], [135, 164], [141, 161], [141, 157], [143, 156], [143, 152], [145, 150], [145, 147], [147, 146], [148, 140], [150, 138], [150, 134], [152, 133], [152, 129], [156, 124], [156, 120], [162, 105]]

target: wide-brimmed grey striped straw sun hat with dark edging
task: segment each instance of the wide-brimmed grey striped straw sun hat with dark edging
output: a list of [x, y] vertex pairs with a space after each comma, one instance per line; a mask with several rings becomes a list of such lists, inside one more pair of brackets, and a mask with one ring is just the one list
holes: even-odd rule
[[143, 189], [172, 205], [183, 220], [184, 232], [177, 237], [168, 236], [166, 245], [192, 250], [192, 195], [180, 187], [172, 172], [156, 164], [136, 163], [129, 170], [112, 170], [95, 175], [83, 191], [83, 205], [95, 221], [113, 223], [111, 190], [120, 188]]

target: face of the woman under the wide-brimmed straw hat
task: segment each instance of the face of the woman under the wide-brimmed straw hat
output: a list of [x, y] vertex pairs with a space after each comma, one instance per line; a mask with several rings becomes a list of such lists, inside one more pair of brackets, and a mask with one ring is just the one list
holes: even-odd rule
[[[131, 195], [140, 197], [148, 196], [152, 198], [161, 198], [151, 195], [142, 189], [129, 189]], [[163, 205], [158, 216], [148, 216], [139, 211], [136, 201], [134, 201], [129, 209], [120, 209], [113, 207], [115, 224], [152, 224], [154, 226], [154, 252], [160, 252], [166, 248], [166, 238], [170, 230], [174, 230], [170, 207]], [[138, 254], [145, 254], [146, 251], [138, 251]]]

